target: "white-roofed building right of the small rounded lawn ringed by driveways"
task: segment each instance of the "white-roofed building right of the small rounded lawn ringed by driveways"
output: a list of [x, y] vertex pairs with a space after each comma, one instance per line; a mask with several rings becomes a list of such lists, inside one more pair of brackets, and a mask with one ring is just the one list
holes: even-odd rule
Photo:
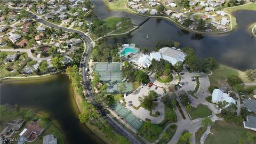
[[219, 101], [227, 101], [236, 105], [236, 100], [229, 97], [229, 94], [223, 93], [220, 89], [214, 89], [212, 92], [212, 102], [217, 103]]

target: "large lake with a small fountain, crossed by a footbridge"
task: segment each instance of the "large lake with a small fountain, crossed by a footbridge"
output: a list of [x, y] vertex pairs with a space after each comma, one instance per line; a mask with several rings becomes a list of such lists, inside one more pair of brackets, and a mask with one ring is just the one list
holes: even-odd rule
[[[92, 1], [94, 13], [99, 18], [107, 17], [130, 17], [133, 23], [140, 23], [145, 17], [124, 11], [110, 11], [103, 1]], [[155, 44], [161, 39], [171, 39], [180, 42], [180, 47], [190, 46], [196, 51], [198, 57], [213, 57], [220, 63], [233, 68], [245, 70], [256, 68], [256, 38], [252, 37], [247, 28], [256, 22], [256, 11], [236, 11], [234, 16], [237, 19], [238, 27], [234, 31], [225, 35], [195, 35], [185, 33], [173, 22], [151, 18], [139, 29], [130, 35], [108, 37], [107, 42], [116, 45], [121, 43], [135, 43], [140, 47], [147, 47], [155, 50]], [[149, 39], [146, 38], [149, 36]]]

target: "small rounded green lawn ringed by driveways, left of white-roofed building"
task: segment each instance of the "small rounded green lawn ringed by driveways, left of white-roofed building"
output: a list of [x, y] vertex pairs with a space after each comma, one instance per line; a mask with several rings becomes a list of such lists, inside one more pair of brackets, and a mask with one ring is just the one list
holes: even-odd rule
[[191, 107], [190, 109], [188, 109], [188, 113], [190, 114], [192, 119], [204, 118], [212, 115], [212, 111], [202, 104], [199, 104], [197, 108]]

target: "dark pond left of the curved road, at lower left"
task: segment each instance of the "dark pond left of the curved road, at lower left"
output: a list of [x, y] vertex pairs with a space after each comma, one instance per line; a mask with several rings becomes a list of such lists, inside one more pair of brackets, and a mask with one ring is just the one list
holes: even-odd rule
[[1, 105], [9, 103], [46, 114], [61, 130], [65, 143], [104, 143], [78, 119], [78, 108], [66, 75], [43, 81], [1, 83]]

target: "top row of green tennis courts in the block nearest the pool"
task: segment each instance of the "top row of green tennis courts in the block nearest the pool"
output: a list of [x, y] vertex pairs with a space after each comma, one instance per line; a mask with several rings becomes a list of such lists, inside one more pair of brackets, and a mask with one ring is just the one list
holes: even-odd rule
[[95, 71], [120, 71], [120, 63], [94, 63]]

